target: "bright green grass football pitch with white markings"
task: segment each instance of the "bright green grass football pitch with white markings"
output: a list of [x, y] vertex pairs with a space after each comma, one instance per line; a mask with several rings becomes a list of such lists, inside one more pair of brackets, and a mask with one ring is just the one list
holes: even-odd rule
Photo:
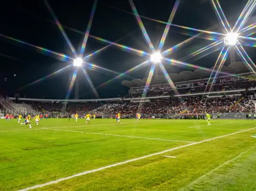
[[256, 190], [254, 120], [31, 122], [0, 120], [1, 191]]

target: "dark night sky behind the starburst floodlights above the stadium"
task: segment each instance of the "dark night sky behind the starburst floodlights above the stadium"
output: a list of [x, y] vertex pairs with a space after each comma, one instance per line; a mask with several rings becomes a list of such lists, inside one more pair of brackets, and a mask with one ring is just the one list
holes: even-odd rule
[[[48, 1], [54, 14], [63, 26], [68, 26], [83, 33], [87, 29], [93, 2], [93, 0]], [[230, 4], [230, 1], [220, 0], [222, 9], [231, 26], [234, 25], [246, 2], [246, 0], [232, 0]], [[134, 3], [139, 15], [167, 22], [175, 1], [134, 0]], [[90, 34], [109, 41], [116, 41], [123, 38], [118, 43], [150, 53], [151, 50], [143, 38], [135, 16], [121, 10], [132, 12], [128, 0], [98, 0]], [[67, 54], [71, 57], [73, 56], [58, 26], [54, 24], [53, 17], [44, 1], [6, 1], [1, 6], [0, 14], [0, 34]], [[245, 26], [255, 22], [254, 20], [253, 13]], [[152, 43], [157, 48], [165, 25], [144, 18], [142, 18], [142, 21]], [[218, 31], [220, 33], [224, 32], [208, 0], [181, 0], [173, 23], [198, 29], [210, 28], [212, 31]], [[84, 35], [65, 27], [64, 30], [76, 51], [80, 52]], [[163, 50], [175, 46], [175, 44], [190, 37], [181, 33], [197, 34], [190, 30], [171, 27]], [[198, 38], [188, 43], [187, 46], [178, 49], [169, 55], [168, 58], [181, 59], [212, 42], [214, 41]], [[89, 37], [84, 55], [92, 53], [106, 45], [106, 42]], [[255, 54], [253, 54], [254, 48], [246, 47], [245, 49], [252, 59], [254, 57], [256, 58]], [[217, 51], [205, 56], [205, 58], [196, 61], [193, 58], [186, 62], [210, 68], [214, 66], [218, 54], [219, 52]], [[88, 61], [123, 73], [146, 59], [148, 58], [123, 51], [121, 48], [112, 45], [91, 57]], [[240, 61], [240, 58], [236, 56], [236, 60]], [[39, 49], [7, 39], [3, 36], [0, 36], [0, 62], [0, 93], [10, 96], [13, 96], [14, 93], [20, 93], [21, 97], [26, 95], [26, 98], [42, 98], [44, 96], [44, 98], [53, 99], [60, 97], [64, 99], [75, 69], [71, 66], [63, 72], [51, 75], [46, 79], [26, 86], [60, 68], [68, 66], [70, 62], [59, 60], [56, 56], [45, 54]], [[227, 66], [229, 63], [230, 61], [227, 59], [224, 65]], [[145, 78], [148, 76], [149, 69], [150, 65], [139, 71], [130, 73], [129, 77], [122, 77], [101, 87], [98, 86], [112, 79], [117, 74], [99, 70], [95, 71], [92, 68], [87, 68], [87, 72], [96, 90], [99, 92], [100, 98], [106, 98], [107, 96], [115, 97], [117, 95], [127, 94], [128, 88], [122, 86], [121, 81], [132, 80], [132, 78]], [[194, 71], [191, 68], [176, 66], [166, 66], [166, 69], [168, 73], [179, 73], [186, 69]], [[16, 74], [16, 77], [14, 74]], [[159, 68], [156, 68], [155, 75], [161, 75]], [[90, 88], [82, 71], [78, 71], [78, 77], [80, 98], [95, 98], [92, 88]], [[4, 78], [8, 78], [7, 81]], [[74, 93], [75, 88], [71, 92], [70, 99], [74, 98]]]

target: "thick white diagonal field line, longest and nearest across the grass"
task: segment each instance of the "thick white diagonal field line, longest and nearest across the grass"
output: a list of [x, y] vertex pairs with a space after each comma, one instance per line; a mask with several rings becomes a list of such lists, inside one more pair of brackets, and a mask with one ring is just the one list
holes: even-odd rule
[[155, 153], [150, 154], [150, 155], [145, 155], [145, 156], [138, 157], [138, 158], [133, 158], [133, 159], [131, 159], [131, 160], [127, 160], [127, 161], [124, 161], [124, 162], [119, 162], [119, 163], [107, 165], [107, 166], [105, 166], [105, 167], [101, 167], [101, 168], [97, 168], [97, 169], [93, 169], [93, 170], [84, 171], [84, 172], [82, 172], [82, 173], [74, 174], [74, 175], [72, 175], [72, 176], [64, 177], [64, 178], [62, 178], [62, 179], [54, 180], [54, 181], [51, 181], [51, 182], [46, 182], [46, 183], [44, 183], [44, 184], [37, 184], [37, 185], [35, 185], [35, 186], [28, 187], [28, 188], [25, 188], [25, 189], [21, 189], [21, 190], [18, 190], [18, 191], [27, 191], [27, 190], [32, 190], [32, 189], [36, 189], [36, 188], [45, 187], [45, 186], [48, 186], [48, 185], [51, 185], [51, 184], [55, 184], [55, 183], [58, 183], [58, 182], [62, 182], [62, 181], [65, 181], [65, 180], [72, 179], [72, 178], [74, 178], [74, 177], [83, 176], [83, 175], [90, 174], [90, 173], [95, 173], [96, 171], [105, 170], [105, 169], [112, 168], [112, 167], [117, 167], [118, 165], [130, 163], [130, 162], [133, 162], [133, 161], [142, 160], [142, 159], [144, 159], [144, 158], [148, 158], [148, 157], [151, 157], [151, 156], [161, 155], [161, 154], [164, 154], [164, 153], [169, 152], [169, 151], [173, 151], [173, 150], [177, 150], [177, 149], [189, 147], [189, 146], [192, 146], [192, 145], [195, 145], [195, 144], [200, 144], [200, 143], [212, 141], [212, 140], [214, 140], [214, 139], [218, 139], [218, 138], [222, 138], [222, 137], [227, 137], [227, 136], [230, 136], [230, 135], [235, 135], [236, 133], [241, 133], [241, 132], [245, 132], [245, 131], [250, 131], [250, 130], [253, 130], [253, 129], [256, 129], [256, 128], [247, 129], [247, 130], [243, 130], [243, 131], [237, 131], [237, 132], [233, 132], [233, 133], [230, 133], [230, 134], [227, 134], [227, 135], [222, 135], [222, 136], [220, 136], [220, 137], [214, 137], [214, 138], [206, 139], [206, 140], [204, 140], [204, 141], [200, 141], [200, 142], [196, 142], [196, 143], [190, 143], [190, 144], [182, 145], [182, 146], [180, 146], [180, 147], [175, 147], [175, 148], [168, 149], [168, 150], [164, 150], [164, 151], [161, 151], [161, 152], [155, 152]]

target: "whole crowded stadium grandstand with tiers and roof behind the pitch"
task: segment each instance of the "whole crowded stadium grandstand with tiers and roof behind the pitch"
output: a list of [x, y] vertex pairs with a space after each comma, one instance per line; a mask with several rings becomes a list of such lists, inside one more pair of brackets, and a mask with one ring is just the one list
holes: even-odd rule
[[[87, 112], [96, 113], [99, 118], [111, 118], [116, 113], [122, 113], [124, 118], [135, 118], [139, 107], [144, 118], [187, 118], [186, 114], [197, 115], [198, 118], [205, 111], [215, 116], [217, 113], [240, 113], [240, 117], [245, 118], [245, 113], [255, 111], [255, 75], [248, 71], [243, 62], [223, 67], [215, 81], [214, 78], [209, 80], [211, 72], [201, 69], [169, 75], [178, 94], [167, 84], [163, 76], [157, 75], [143, 99], [142, 93], [147, 78], [122, 81], [121, 84], [130, 90], [127, 95], [119, 98], [53, 100], [10, 97], [7, 101], [10, 101], [9, 105], [15, 105], [11, 108], [16, 108], [13, 109], [16, 115], [48, 113], [54, 118], [66, 117], [69, 113], [83, 116]], [[4, 108], [5, 113], [12, 111], [11, 108], [8, 110], [8, 107], [4, 106], [2, 104], [1, 113], [4, 113]], [[237, 114], [225, 116], [236, 118]]]

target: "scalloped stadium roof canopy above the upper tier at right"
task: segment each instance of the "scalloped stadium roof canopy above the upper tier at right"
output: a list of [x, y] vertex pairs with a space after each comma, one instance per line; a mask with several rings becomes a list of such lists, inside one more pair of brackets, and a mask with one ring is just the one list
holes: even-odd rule
[[[214, 67], [211, 67], [213, 69]], [[244, 62], [235, 62], [231, 63], [227, 67], [222, 66], [221, 72], [229, 73], [229, 74], [242, 74], [242, 73], [250, 73], [248, 67]], [[209, 78], [211, 71], [206, 71], [204, 69], [196, 69], [194, 72], [191, 71], [182, 71], [179, 74], [169, 73], [170, 79], [173, 82], [181, 82], [181, 81], [189, 81], [189, 80], [200, 80], [204, 78]], [[219, 76], [223, 76], [227, 74], [220, 73]], [[131, 81], [124, 80], [121, 82], [122, 85], [127, 87], [141, 87], [145, 85], [147, 78], [141, 79], [133, 79]], [[153, 77], [151, 81], [151, 85], [159, 85], [168, 83], [166, 78], [163, 75], [156, 75]]]

